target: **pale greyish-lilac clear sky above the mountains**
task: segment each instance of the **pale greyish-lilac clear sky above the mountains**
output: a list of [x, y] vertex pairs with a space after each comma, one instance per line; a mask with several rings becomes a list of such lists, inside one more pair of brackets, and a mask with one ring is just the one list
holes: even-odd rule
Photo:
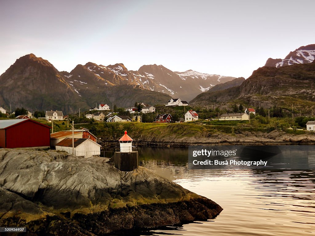
[[268, 58], [315, 43], [313, 0], [0, 0], [0, 74], [34, 53], [57, 70], [128, 70], [248, 78]]

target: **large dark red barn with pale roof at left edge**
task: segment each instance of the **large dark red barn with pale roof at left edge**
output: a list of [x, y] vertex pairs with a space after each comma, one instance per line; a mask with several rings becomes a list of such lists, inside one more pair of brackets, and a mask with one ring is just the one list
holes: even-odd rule
[[30, 119], [0, 120], [0, 148], [49, 146], [49, 126]]

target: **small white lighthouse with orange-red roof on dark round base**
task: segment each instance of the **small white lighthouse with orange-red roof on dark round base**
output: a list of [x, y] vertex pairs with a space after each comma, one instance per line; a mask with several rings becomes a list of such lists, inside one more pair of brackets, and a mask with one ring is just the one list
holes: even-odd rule
[[133, 139], [129, 137], [127, 131], [119, 139], [119, 148], [114, 155], [115, 167], [121, 171], [132, 171], [138, 168], [138, 151], [132, 146]]

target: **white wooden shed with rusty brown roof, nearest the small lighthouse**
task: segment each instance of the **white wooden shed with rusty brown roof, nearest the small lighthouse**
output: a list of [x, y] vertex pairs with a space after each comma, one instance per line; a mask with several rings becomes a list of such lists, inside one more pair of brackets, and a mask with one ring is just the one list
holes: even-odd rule
[[101, 145], [89, 138], [74, 138], [74, 148], [72, 149], [72, 138], [65, 138], [56, 144], [57, 151], [65, 151], [69, 154], [89, 158], [100, 155]]

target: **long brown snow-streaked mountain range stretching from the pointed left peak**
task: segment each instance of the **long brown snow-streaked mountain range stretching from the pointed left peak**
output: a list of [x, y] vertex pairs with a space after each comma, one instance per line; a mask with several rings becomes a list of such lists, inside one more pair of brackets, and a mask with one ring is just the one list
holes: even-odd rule
[[95, 104], [130, 107], [136, 101], [166, 104], [172, 98], [191, 100], [216, 84], [234, 77], [193, 70], [173, 72], [162, 65], [143, 65], [138, 71], [123, 64], [88, 62], [72, 71], [58, 71], [48, 60], [25, 55], [0, 76], [0, 104], [28, 110], [85, 110]]

